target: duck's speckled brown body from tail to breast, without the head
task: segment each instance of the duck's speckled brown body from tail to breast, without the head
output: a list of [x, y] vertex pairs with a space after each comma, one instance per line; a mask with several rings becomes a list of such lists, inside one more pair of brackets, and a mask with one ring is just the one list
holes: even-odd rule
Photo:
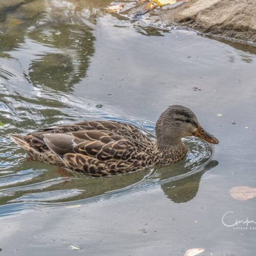
[[135, 172], [150, 165], [180, 161], [187, 153], [157, 148], [155, 140], [135, 126], [115, 121], [63, 124], [12, 138], [35, 160], [70, 168], [90, 176]]

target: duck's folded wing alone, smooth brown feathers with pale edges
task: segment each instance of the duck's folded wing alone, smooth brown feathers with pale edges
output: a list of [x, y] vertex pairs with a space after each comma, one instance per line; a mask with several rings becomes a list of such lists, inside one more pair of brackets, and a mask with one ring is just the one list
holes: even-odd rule
[[112, 131], [80, 130], [69, 133], [47, 133], [42, 135], [48, 148], [60, 157], [79, 154], [100, 161], [109, 159], [127, 160], [136, 152], [134, 143]]

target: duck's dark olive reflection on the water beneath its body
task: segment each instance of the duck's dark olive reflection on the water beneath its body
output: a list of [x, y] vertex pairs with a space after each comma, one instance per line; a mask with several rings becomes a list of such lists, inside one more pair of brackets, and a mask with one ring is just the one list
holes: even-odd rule
[[[182, 165], [183, 168], [180, 168]], [[72, 177], [72, 174], [79, 175], [78, 179], [68, 181], [65, 187], [85, 189], [84, 193], [80, 195], [80, 199], [89, 199], [95, 196], [101, 197], [101, 199], [110, 199], [161, 186], [167, 198], [175, 203], [185, 203], [196, 197], [203, 174], [217, 165], [218, 161], [210, 160], [205, 165], [202, 164], [200, 169], [189, 170], [189, 168], [184, 168], [184, 162], [181, 162], [176, 166], [155, 168], [153, 172], [147, 169], [134, 174], [110, 178], [91, 178], [62, 168], [57, 168], [56, 172], [62, 177]]]

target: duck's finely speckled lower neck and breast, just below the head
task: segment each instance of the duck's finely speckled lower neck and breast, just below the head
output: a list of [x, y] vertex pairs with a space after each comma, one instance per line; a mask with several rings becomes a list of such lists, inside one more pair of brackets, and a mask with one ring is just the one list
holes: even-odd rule
[[165, 142], [156, 143], [158, 151], [158, 163], [157, 164], [169, 164], [182, 160], [188, 151], [186, 145], [181, 141], [181, 139], [175, 141], [175, 143], [169, 144]]

